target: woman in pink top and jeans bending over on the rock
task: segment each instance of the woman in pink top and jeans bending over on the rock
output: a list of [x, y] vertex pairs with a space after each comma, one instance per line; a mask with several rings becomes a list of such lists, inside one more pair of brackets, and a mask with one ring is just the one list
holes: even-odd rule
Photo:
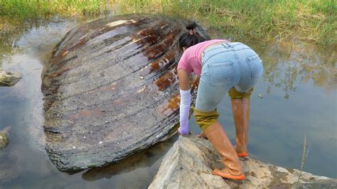
[[[262, 77], [263, 67], [257, 53], [242, 43], [215, 39], [205, 41], [195, 31], [196, 23], [179, 38], [183, 55], [178, 63], [178, 80], [181, 93], [180, 127], [178, 132], [188, 134], [188, 113], [191, 106], [189, 75], [200, 76], [196, 107], [193, 116], [213, 147], [223, 157], [224, 169], [213, 171], [223, 178], [244, 180], [245, 174], [238, 156], [248, 156], [248, 122], [250, 95]], [[218, 104], [229, 94], [236, 129], [236, 146], [232, 146], [223, 127], [218, 122]]]

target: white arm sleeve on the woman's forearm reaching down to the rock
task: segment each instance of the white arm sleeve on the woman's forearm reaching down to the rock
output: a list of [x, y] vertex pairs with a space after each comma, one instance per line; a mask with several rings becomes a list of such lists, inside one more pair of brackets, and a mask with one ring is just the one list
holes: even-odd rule
[[180, 90], [180, 133], [188, 134], [188, 116], [190, 114], [191, 107], [191, 89], [190, 90]]

